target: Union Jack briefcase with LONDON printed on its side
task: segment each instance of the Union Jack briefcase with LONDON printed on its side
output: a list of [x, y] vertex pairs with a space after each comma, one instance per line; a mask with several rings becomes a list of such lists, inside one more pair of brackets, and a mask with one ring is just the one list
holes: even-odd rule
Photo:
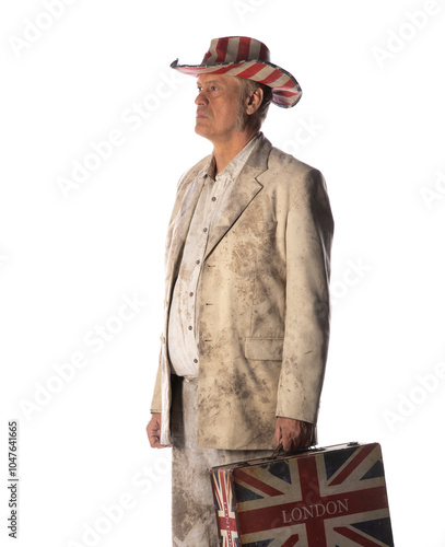
[[394, 547], [378, 443], [212, 467], [222, 547]]

